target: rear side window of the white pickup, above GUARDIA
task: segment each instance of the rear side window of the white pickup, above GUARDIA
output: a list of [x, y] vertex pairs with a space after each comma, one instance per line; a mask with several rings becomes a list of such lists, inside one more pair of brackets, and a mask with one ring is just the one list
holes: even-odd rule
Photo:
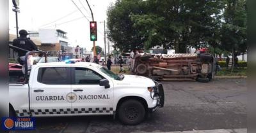
[[42, 67], [38, 71], [38, 82], [47, 85], [68, 85], [67, 67]]

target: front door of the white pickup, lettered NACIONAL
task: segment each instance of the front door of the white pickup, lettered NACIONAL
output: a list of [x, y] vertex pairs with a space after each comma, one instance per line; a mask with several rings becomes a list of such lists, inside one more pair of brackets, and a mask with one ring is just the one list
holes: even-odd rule
[[102, 75], [85, 67], [72, 67], [72, 93], [77, 97], [72, 109], [82, 114], [113, 113], [113, 83], [110, 88], [99, 85]]

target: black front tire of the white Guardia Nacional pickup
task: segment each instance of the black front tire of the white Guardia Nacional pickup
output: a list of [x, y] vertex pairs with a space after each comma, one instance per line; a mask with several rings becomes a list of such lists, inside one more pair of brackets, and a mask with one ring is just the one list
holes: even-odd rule
[[145, 108], [140, 101], [131, 99], [124, 101], [118, 108], [118, 118], [125, 125], [137, 125], [145, 119]]

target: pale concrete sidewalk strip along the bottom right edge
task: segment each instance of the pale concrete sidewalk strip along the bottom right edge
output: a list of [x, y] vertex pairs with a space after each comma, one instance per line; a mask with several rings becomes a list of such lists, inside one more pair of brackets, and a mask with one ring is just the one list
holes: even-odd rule
[[157, 132], [157, 133], [247, 133], [247, 129], [191, 130], [191, 131]]

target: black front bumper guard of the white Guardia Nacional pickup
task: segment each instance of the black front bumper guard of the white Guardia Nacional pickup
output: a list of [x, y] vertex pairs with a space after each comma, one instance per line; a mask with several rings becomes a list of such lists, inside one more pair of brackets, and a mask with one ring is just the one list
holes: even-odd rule
[[154, 94], [152, 95], [152, 92], [151, 92], [150, 96], [151, 96], [152, 99], [157, 100], [156, 107], [163, 108], [163, 106], [164, 106], [164, 88], [163, 88], [163, 85], [161, 83], [158, 83], [157, 81], [154, 81], [154, 82], [156, 84], [156, 86], [154, 87]]

